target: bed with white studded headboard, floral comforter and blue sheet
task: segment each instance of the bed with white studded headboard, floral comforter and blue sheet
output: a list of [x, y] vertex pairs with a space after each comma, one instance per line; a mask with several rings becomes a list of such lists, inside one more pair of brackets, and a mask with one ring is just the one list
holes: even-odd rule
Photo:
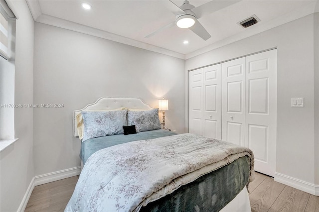
[[[80, 113], [88, 120], [89, 111], [119, 108], [128, 122], [132, 114], [158, 113], [139, 98], [103, 97], [74, 111], [74, 136]], [[85, 165], [65, 211], [251, 211], [246, 189], [254, 179], [250, 149], [156, 125], [136, 134], [84, 137], [80, 157]]]

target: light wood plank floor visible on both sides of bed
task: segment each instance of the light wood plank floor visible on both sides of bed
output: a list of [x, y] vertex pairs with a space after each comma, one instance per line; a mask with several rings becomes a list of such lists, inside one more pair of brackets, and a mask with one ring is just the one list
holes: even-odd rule
[[[79, 177], [36, 186], [25, 212], [63, 212]], [[252, 212], [319, 212], [319, 197], [257, 173], [249, 184]]]

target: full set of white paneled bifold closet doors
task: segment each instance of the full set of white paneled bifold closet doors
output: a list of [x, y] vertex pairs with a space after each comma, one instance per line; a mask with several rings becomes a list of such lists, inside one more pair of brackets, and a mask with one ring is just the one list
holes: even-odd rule
[[249, 147], [255, 170], [276, 168], [277, 50], [189, 72], [189, 132]]

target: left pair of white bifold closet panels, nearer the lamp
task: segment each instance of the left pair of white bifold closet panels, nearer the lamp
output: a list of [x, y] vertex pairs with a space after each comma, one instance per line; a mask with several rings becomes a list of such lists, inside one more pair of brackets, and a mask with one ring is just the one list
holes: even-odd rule
[[189, 72], [189, 132], [221, 139], [221, 64]]

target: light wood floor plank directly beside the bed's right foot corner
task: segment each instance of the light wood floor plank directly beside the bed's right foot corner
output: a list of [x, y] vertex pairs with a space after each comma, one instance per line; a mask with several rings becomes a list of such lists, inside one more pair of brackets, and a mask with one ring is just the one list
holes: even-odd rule
[[266, 177], [249, 195], [252, 212], [267, 212], [284, 188], [284, 184], [275, 182], [271, 177]]

